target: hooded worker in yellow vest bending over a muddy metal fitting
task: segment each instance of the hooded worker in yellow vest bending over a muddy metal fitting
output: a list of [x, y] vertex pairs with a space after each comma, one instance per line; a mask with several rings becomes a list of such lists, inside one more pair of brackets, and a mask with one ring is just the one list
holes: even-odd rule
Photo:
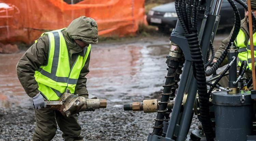
[[82, 16], [67, 28], [41, 34], [20, 58], [17, 75], [35, 108], [37, 125], [33, 140], [51, 140], [57, 124], [65, 140], [83, 139], [78, 116], [67, 118], [57, 110], [45, 108], [44, 99], [58, 100], [67, 89], [88, 98], [85, 75], [89, 73], [91, 44], [96, 43], [98, 27], [95, 20]]

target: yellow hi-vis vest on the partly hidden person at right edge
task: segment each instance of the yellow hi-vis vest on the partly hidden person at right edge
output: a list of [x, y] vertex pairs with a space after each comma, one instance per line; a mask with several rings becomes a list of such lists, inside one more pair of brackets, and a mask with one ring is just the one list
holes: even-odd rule
[[[239, 63], [238, 66], [241, 67], [243, 60], [247, 61], [247, 69], [252, 70], [252, 58], [250, 49], [250, 39], [247, 41], [245, 38], [245, 33], [240, 29], [236, 40], [234, 41], [237, 51]], [[253, 34], [253, 45], [254, 45], [254, 61], [256, 63], [256, 33]]]

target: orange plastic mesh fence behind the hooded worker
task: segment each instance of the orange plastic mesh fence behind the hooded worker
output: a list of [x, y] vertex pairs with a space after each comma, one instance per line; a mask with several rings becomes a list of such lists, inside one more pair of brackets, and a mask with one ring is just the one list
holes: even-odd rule
[[144, 0], [0, 0], [0, 42], [31, 43], [42, 32], [67, 27], [80, 16], [94, 18], [99, 35], [134, 34], [143, 22]]

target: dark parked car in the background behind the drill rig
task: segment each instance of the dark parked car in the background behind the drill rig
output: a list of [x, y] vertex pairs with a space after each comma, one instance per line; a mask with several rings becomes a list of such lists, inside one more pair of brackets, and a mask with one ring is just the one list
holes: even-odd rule
[[[244, 9], [237, 4], [241, 19], [244, 18]], [[233, 9], [227, 0], [223, 0], [221, 7], [221, 19], [218, 29], [232, 28], [234, 25]], [[166, 29], [175, 28], [177, 22], [177, 14], [174, 2], [162, 4], [153, 7], [147, 14], [147, 22], [149, 25], [155, 25], [159, 31], [167, 31]]]

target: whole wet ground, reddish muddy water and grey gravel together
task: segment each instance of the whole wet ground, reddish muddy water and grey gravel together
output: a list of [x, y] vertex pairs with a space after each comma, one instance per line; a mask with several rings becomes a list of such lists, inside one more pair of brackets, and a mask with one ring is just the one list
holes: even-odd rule
[[[218, 35], [214, 45], [227, 35]], [[123, 104], [159, 97], [167, 73], [169, 37], [99, 43], [91, 49], [89, 97], [108, 106], [79, 116], [84, 140], [146, 140], [156, 113], [129, 112]], [[35, 125], [32, 100], [20, 85], [15, 66], [24, 51], [0, 54], [0, 141], [31, 140]], [[194, 118], [192, 128], [198, 124]], [[53, 140], [62, 140], [58, 129]]]

